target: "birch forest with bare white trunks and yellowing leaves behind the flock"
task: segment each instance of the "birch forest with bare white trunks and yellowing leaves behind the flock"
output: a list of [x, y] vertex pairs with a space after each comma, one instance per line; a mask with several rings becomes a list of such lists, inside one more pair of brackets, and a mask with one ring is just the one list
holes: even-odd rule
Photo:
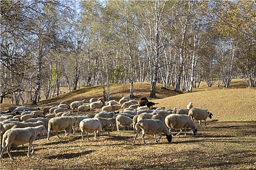
[[[256, 86], [255, 0], [1, 0], [0, 102], [81, 86]], [[26, 95], [24, 95], [26, 94]]]

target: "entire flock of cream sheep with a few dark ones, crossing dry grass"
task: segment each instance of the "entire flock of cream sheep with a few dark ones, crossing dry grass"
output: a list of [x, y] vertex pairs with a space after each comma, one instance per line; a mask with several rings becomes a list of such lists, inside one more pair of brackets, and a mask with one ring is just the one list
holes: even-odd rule
[[[197, 135], [197, 127], [200, 121], [204, 120], [206, 127], [206, 119], [212, 118], [213, 114], [205, 109], [195, 108], [190, 102], [187, 109], [165, 109], [163, 107], [154, 108], [157, 103], [149, 102], [146, 97], [140, 98], [140, 101], [130, 100], [129, 97], [123, 97], [119, 102], [112, 100], [105, 101], [102, 99], [92, 98], [89, 104], [84, 105], [86, 101], [60, 102], [58, 107], [46, 106], [40, 108], [31, 108], [29, 106], [16, 107], [11, 106], [7, 111], [0, 112], [0, 130], [1, 130], [1, 154], [0, 159], [5, 151], [11, 159], [14, 159], [10, 153], [12, 144], [23, 145], [29, 143], [28, 154], [30, 156], [30, 147], [32, 146], [34, 153], [33, 141], [36, 137], [46, 135], [50, 140], [52, 132], [60, 139], [58, 132], [65, 131], [67, 136], [71, 129], [75, 134], [76, 130], [81, 131], [89, 141], [88, 134], [94, 132], [94, 138], [100, 132], [108, 132], [117, 129], [120, 126], [125, 128], [133, 127], [136, 138], [142, 132], [143, 143], [146, 144], [144, 136], [154, 135], [155, 142], [158, 142], [162, 134], [166, 135], [168, 142], [172, 141], [172, 130], [180, 129], [179, 135], [184, 129], [191, 129], [193, 135]], [[97, 112], [101, 109], [100, 112]], [[122, 113], [118, 110], [123, 109]], [[71, 111], [70, 111], [71, 110]], [[74, 113], [76, 110], [76, 113]], [[90, 111], [89, 111], [90, 110]], [[78, 113], [77, 113], [78, 112]], [[196, 126], [194, 120], [198, 120]], [[158, 139], [157, 139], [157, 136]]]

